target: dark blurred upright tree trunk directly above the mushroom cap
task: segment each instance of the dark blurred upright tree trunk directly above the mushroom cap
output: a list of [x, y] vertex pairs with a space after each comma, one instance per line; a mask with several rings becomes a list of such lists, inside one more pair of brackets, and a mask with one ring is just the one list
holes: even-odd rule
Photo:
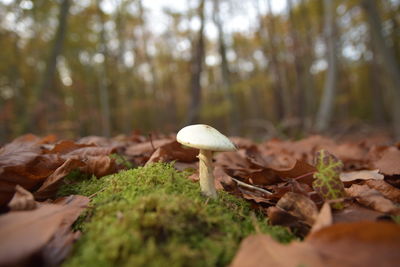
[[204, 3], [201, 0], [198, 7], [198, 16], [200, 18], [200, 29], [197, 36], [197, 41], [193, 44], [192, 63], [191, 63], [191, 101], [189, 106], [189, 113], [187, 117], [187, 124], [197, 123], [199, 120], [201, 109], [201, 74], [203, 72], [205, 42], [204, 42]]

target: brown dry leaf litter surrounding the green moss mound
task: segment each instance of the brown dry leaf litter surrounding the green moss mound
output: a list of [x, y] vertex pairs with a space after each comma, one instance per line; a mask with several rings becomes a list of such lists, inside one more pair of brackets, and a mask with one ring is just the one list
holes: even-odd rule
[[[399, 146], [322, 136], [260, 144], [232, 140], [237, 152], [214, 155], [217, 189], [247, 199], [269, 223], [305, 238], [282, 245], [269, 236], [248, 237], [232, 266], [399, 262], [400, 230], [391, 222], [399, 215]], [[71, 225], [89, 201], [82, 196], [55, 200], [71, 172], [101, 178], [132, 166], [173, 162], [179, 170], [191, 170], [190, 179], [197, 181], [196, 156], [174, 135], [160, 134], [76, 141], [25, 135], [6, 144], [0, 149], [0, 265], [23, 265], [32, 255], [58, 265], [68, 256], [80, 235]]]

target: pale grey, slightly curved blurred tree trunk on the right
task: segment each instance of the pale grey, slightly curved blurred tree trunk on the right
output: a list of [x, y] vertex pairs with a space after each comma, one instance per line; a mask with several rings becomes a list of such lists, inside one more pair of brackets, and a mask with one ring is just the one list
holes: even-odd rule
[[325, 79], [324, 91], [320, 102], [316, 130], [325, 131], [330, 126], [336, 96], [336, 79], [337, 79], [337, 49], [335, 35], [335, 6], [333, 1], [324, 0], [324, 28], [327, 47], [327, 77]]

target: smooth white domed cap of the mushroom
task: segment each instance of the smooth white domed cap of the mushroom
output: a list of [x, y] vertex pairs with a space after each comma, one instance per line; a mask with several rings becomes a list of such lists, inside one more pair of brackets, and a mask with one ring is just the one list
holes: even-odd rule
[[228, 137], [205, 124], [189, 125], [182, 128], [176, 135], [176, 140], [185, 146], [210, 151], [237, 150]]

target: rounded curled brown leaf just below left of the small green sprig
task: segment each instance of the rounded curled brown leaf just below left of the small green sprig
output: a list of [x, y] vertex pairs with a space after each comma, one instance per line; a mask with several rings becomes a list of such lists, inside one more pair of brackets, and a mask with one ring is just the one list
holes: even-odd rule
[[308, 225], [312, 226], [318, 216], [317, 205], [308, 197], [302, 194], [287, 192], [276, 203], [278, 208], [281, 208], [291, 215], [299, 218]]

